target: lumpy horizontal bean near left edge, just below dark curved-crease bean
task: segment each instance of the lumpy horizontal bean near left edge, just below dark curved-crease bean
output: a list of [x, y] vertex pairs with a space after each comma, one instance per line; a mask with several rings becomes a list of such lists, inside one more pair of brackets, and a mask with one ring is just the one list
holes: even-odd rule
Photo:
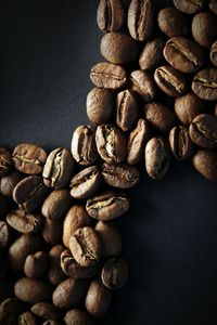
[[8, 213], [7, 222], [20, 233], [34, 234], [41, 229], [43, 218], [39, 213], [34, 214], [23, 209], [16, 209]]

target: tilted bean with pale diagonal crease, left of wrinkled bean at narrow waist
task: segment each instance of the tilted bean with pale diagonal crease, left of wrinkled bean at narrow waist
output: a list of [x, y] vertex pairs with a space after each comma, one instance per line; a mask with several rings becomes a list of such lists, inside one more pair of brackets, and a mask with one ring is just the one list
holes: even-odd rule
[[78, 172], [71, 181], [71, 195], [82, 199], [91, 196], [101, 184], [101, 173], [97, 166], [88, 167]]

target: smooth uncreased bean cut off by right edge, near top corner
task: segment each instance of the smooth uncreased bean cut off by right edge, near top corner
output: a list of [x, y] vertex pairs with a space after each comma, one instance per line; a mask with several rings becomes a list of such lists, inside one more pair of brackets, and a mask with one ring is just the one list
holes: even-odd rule
[[194, 15], [191, 31], [193, 38], [202, 48], [210, 48], [217, 38], [216, 15], [209, 11]]

